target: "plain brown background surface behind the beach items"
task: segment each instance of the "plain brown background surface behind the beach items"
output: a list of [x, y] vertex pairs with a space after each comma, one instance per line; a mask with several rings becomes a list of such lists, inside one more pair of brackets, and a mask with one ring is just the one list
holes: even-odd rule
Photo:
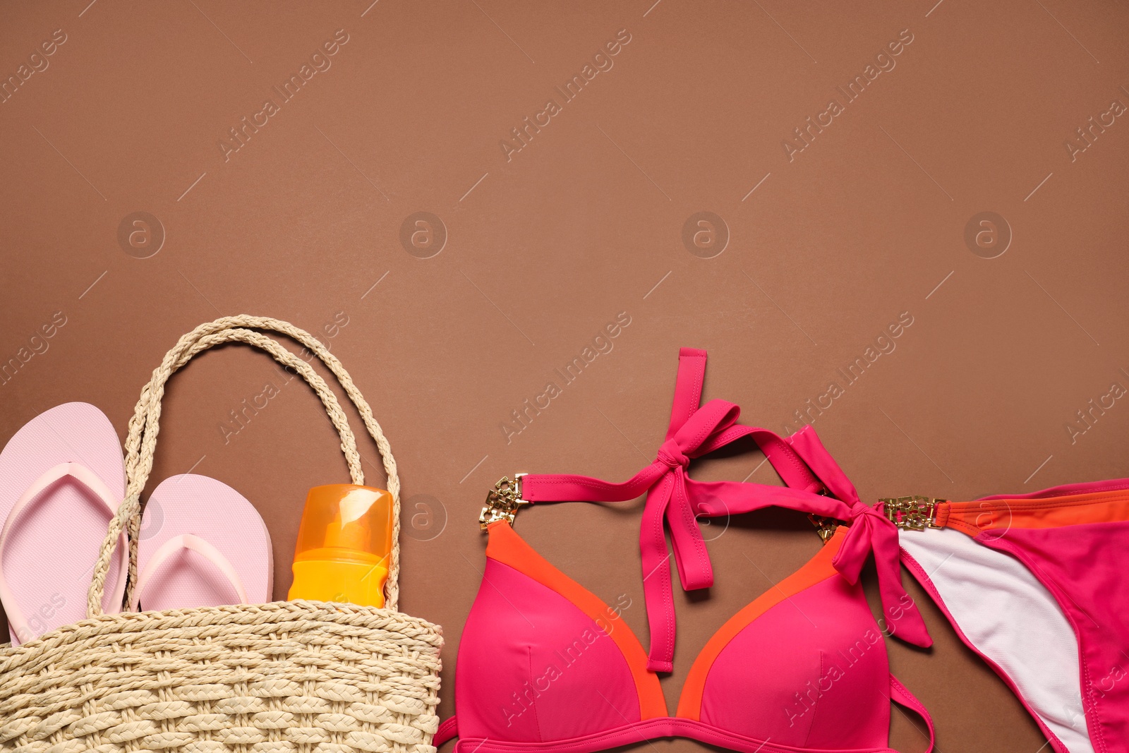
[[[515, 471], [634, 473], [662, 440], [680, 345], [709, 350], [707, 397], [780, 431], [909, 312], [896, 349], [815, 415], [864, 499], [1129, 475], [1129, 408], [1074, 443], [1066, 428], [1129, 385], [1129, 122], [1074, 160], [1065, 146], [1129, 104], [1124, 6], [653, 2], [7, 6], [5, 77], [54, 29], [67, 42], [0, 105], [0, 358], [26, 354], [55, 312], [67, 323], [0, 386], [0, 438], [67, 401], [124, 437], [161, 354], [220, 314], [320, 333], [396, 450], [402, 606], [444, 625], [444, 716], [487, 488]], [[614, 67], [562, 104], [553, 87], [623, 28]], [[782, 140], [907, 28], [896, 67], [789, 161]], [[349, 42], [332, 67], [225, 160], [228, 129], [279, 100], [271, 87], [336, 29]], [[548, 98], [561, 112], [507, 161], [499, 142]], [[117, 239], [135, 211], [166, 235], [148, 259]], [[448, 236], [426, 260], [400, 240], [418, 211]], [[699, 211], [729, 234], [712, 259], [682, 240]], [[983, 211], [1013, 235], [995, 259], [999, 245], [964, 239]], [[507, 443], [510, 411], [620, 312], [614, 349]], [[194, 469], [240, 490], [270, 527], [282, 598], [306, 489], [347, 474], [298, 383], [225, 438], [266, 382], [272, 361], [236, 348], [177, 376], [150, 488]], [[778, 483], [762, 459], [746, 448], [694, 474]], [[639, 511], [546, 506], [517, 527], [605, 601], [629, 596], [646, 642]], [[709, 597], [676, 592], [671, 708], [707, 637], [817, 546], [793, 513], [733, 520], [711, 543]], [[1035, 753], [1019, 703], [925, 604], [935, 647], [890, 651], [939, 750]], [[924, 750], [908, 718], [892, 726], [894, 745]]]

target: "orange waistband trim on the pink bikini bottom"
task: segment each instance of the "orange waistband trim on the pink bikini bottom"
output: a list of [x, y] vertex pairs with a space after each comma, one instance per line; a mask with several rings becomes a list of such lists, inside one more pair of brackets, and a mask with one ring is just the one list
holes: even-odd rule
[[1102, 491], [1042, 499], [986, 499], [948, 502], [937, 524], [977, 536], [1000, 528], [1058, 528], [1086, 523], [1129, 520], [1129, 491]]

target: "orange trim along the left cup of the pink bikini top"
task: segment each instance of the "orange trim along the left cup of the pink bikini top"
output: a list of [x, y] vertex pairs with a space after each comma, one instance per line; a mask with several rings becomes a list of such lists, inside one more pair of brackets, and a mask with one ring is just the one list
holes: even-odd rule
[[619, 647], [627, 659], [631, 676], [634, 680], [636, 692], [639, 694], [639, 715], [641, 719], [658, 719], [666, 717], [666, 699], [658, 684], [658, 677], [647, 672], [647, 653], [642, 643], [631, 632], [616, 612], [590, 590], [569, 578], [517, 535], [517, 532], [505, 520], [491, 523], [487, 528], [490, 540], [487, 543], [487, 557], [502, 564], [508, 564], [518, 572], [533, 578], [542, 586], [552, 588], [558, 594], [592, 618]]

